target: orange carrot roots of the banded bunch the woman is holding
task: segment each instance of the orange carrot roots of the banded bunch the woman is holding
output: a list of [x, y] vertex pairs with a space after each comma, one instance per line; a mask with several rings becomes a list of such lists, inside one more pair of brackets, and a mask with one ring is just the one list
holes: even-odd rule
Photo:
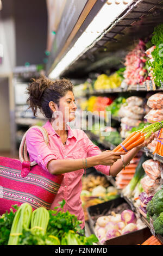
[[[141, 145], [143, 142], [145, 141], [145, 135], [143, 132], [140, 131], [135, 131], [132, 132], [126, 139], [124, 139], [124, 141], [121, 143], [123, 145], [123, 147], [129, 151], [139, 145]], [[125, 152], [125, 150], [123, 149], [123, 147], [120, 145], [118, 145], [114, 150], [114, 152]]]

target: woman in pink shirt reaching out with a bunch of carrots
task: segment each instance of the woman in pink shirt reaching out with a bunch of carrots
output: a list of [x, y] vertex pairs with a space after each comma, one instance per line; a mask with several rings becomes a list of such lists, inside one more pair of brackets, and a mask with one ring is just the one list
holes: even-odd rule
[[[51, 81], [46, 77], [33, 79], [28, 94], [27, 102], [34, 115], [36, 116], [39, 108], [48, 119], [43, 127], [49, 137], [47, 147], [37, 128], [28, 131], [26, 141], [30, 161], [36, 161], [51, 174], [64, 174], [64, 180], [51, 208], [65, 199], [64, 211], [68, 210], [76, 215], [84, 228], [84, 212], [80, 199], [84, 169], [94, 166], [103, 174], [116, 176], [122, 170], [123, 162], [128, 164], [142, 147], [152, 142], [154, 135], [129, 153], [109, 150], [102, 153], [83, 130], [72, 130], [66, 124], [66, 121], [74, 120], [77, 109], [73, 85], [69, 80], [63, 78]], [[123, 162], [121, 155], [125, 155]]]

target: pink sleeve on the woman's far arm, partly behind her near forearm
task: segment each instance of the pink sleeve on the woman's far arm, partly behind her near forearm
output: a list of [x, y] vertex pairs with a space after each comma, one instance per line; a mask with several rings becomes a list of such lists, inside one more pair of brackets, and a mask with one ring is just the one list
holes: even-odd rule
[[[96, 156], [102, 153], [102, 151], [97, 147], [97, 145], [93, 144], [89, 137], [87, 137], [86, 133], [84, 132], [84, 143], [86, 147], [86, 153], [87, 157], [90, 156]], [[99, 172], [110, 175], [110, 166], [103, 166], [102, 164], [99, 164], [97, 166], [94, 166]]]

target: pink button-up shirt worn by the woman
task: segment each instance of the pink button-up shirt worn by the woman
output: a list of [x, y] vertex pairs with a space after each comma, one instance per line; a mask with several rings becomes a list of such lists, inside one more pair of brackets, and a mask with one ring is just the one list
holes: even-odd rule
[[[68, 137], [66, 146], [64, 147], [60, 136], [55, 132], [49, 121], [43, 127], [46, 128], [48, 133], [48, 147], [43, 141], [42, 133], [37, 128], [30, 129], [27, 132], [26, 141], [30, 161], [36, 161], [37, 164], [47, 171], [47, 163], [51, 160], [82, 159], [101, 153], [101, 150], [90, 141], [83, 130], [72, 130], [67, 125]], [[103, 174], [109, 175], [110, 166], [98, 165], [95, 168]], [[84, 227], [84, 212], [80, 193], [82, 191], [83, 174], [84, 169], [65, 173], [64, 180], [51, 206], [51, 209], [59, 206], [58, 202], [65, 199], [64, 211], [68, 210], [71, 214], [76, 215], [78, 220], [83, 222], [81, 225], [82, 228]]]

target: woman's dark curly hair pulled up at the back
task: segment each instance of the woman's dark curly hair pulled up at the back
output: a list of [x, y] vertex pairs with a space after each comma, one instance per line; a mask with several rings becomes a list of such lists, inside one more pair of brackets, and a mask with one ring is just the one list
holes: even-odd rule
[[70, 80], [62, 78], [52, 81], [46, 76], [41, 76], [36, 80], [32, 78], [29, 87], [27, 88], [27, 104], [32, 108], [34, 117], [37, 117], [37, 109], [45, 115], [46, 118], [52, 118], [52, 111], [49, 107], [49, 102], [53, 101], [59, 106], [59, 100], [65, 96], [68, 91], [73, 92], [73, 84]]

